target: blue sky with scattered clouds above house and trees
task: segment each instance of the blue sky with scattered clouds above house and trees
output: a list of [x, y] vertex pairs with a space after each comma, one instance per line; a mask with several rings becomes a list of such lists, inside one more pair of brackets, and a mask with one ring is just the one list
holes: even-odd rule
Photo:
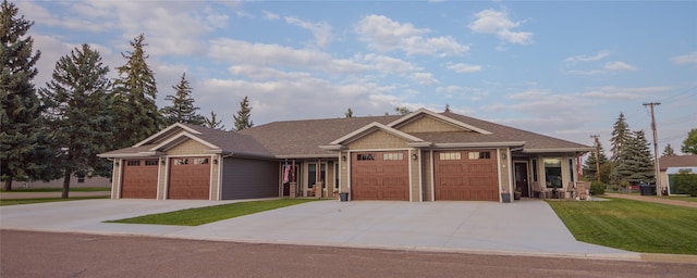
[[[34, 21], [36, 87], [89, 43], [117, 78], [145, 36], [169, 105], [181, 76], [199, 113], [234, 126], [394, 114], [458, 114], [609, 151], [620, 113], [659, 153], [697, 128], [697, 1], [15, 0]], [[318, 130], [321, 132], [321, 130]], [[340, 137], [341, 135], [337, 135]]]

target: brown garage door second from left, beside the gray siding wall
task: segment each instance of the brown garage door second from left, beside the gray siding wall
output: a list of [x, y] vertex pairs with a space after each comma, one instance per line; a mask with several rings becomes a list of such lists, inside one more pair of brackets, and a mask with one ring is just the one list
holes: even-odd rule
[[168, 199], [208, 200], [210, 157], [170, 159]]

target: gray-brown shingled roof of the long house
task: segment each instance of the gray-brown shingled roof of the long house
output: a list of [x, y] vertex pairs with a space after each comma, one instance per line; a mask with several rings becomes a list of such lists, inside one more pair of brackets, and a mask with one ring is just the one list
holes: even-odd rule
[[[508, 127], [491, 122], [486, 122], [473, 117], [467, 117], [454, 113], [440, 113], [469, 126], [474, 126], [490, 134], [473, 131], [449, 131], [449, 132], [412, 132], [409, 135], [420, 138], [435, 144], [448, 143], [481, 143], [481, 146], [496, 143], [518, 143], [523, 146], [523, 151], [531, 152], [570, 152], [589, 151], [592, 148], [553, 137], [539, 135], [513, 127]], [[313, 157], [313, 156], [334, 156], [335, 153], [322, 150], [320, 146], [346, 136], [371, 123], [388, 125], [403, 116], [368, 116], [352, 118], [325, 118], [325, 119], [303, 119], [273, 122], [260, 126], [255, 126], [236, 132], [216, 130], [207, 127], [184, 125], [198, 132], [195, 135], [199, 139], [215, 144], [222, 152], [236, 155], [252, 155], [261, 157]], [[161, 137], [171, 136], [175, 130], [162, 132]], [[124, 148], [101, 154], [109, 157], [110, 154], [138, 153], [157, 146], [157, 141], [162, 140], [154, 136], [140, 142], [137, 148]]]

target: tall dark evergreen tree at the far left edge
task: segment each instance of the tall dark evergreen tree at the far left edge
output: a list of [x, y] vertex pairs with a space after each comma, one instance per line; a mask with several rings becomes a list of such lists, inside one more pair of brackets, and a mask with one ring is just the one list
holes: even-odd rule
[[47, 160], [57, 151], [44, 132], [41, 106], [32, 79], [40, 51], [33, 51], [27, 36], [34, 22], [17, 16], [19, 9], [7, 0], [0, 11], [0, 180], [11, 191], [13, 180], [50, 180]]

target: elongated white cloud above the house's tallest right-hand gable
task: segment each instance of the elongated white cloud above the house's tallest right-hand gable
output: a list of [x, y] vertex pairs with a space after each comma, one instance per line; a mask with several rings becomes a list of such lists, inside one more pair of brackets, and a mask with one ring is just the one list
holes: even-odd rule
[[469, 46], [461, 45], [450, 36], [423, 37], [430, 33], [428, 28], [417, 28], [411, 23], [392, 21], [384, 15], [368, 15], [363, 17], [354, 30], [368, 48], [389, 52], [402, 50], [408, 55], [462, 55], [469, 51]]

